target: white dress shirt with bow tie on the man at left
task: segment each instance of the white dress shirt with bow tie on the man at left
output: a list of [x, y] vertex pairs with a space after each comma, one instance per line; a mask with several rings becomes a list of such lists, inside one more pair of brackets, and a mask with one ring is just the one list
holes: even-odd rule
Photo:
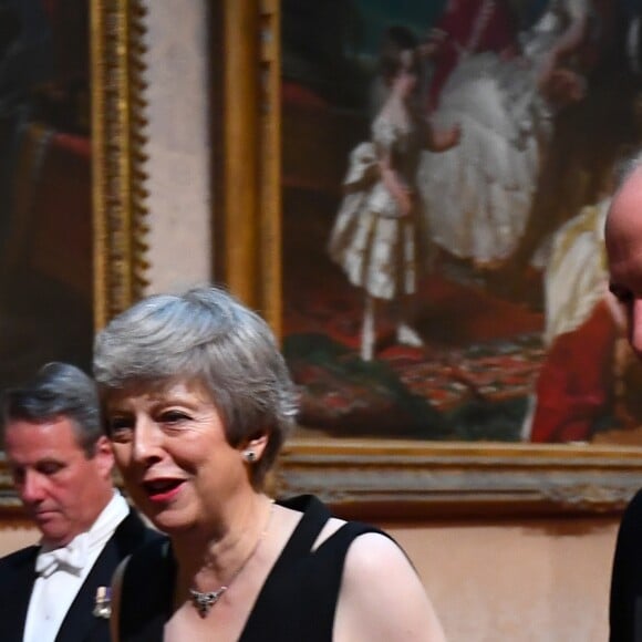
[[[66, 612], [105, 543], [128, 512], [127, 503], [115, 490], [87, 532], [76, 536], [66, 547], [54, 549], [51, 556], [41, 549], [35, 567], [39, 577], [29, 600], [23, 642], [54, 642]], [[63, 561], [56, 563], [54, 556]]]

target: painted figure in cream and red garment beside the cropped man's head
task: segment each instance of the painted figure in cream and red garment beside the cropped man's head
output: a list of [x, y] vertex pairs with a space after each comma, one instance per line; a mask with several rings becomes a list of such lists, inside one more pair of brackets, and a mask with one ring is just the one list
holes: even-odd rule
[[522, 438], [535, 443], [586, 442], [600, 420], [625, 411], [624, 318], [609, 292], [604, 224], [622, 162], [602, 198], [552, 236], [543, 273], [547, 346]]

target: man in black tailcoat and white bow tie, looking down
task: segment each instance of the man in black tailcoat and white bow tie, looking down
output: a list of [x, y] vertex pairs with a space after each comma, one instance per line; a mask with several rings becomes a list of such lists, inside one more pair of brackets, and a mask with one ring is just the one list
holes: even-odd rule
[[13, 484], [42, 537], [0, 559], [0, 640], [108, 642], [112, 574], [158, 535], [113, 486], [96, 387], [49, 363], [6, 391], [2, 420]]

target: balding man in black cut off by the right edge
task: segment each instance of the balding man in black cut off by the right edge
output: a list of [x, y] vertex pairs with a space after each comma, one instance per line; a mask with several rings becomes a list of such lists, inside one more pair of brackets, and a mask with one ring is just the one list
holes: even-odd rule
[[[610, 290], [622, 304], [629, 343], [642, 359], [642, 155], [620, 180], [605, 226]], [[610, 604], [611, 642], [642, 642], [642, 490], [618, 534]]]

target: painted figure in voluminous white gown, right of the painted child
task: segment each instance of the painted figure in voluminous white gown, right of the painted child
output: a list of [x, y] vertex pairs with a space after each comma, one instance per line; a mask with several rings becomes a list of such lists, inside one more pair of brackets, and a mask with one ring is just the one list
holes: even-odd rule
[[[500, 266], [528, 221], [557, 108], [583, 96], [572, 56], [588, 32], [589, 0], [550, 0], [520, 38], [521, 54], [463, 51], [439, 94], [435, 127], [462, 127], [460, 144], [421, 158], [418, 187], [432, 242], [476, 267]], [[484, 28], [488, 7], [480, 4]]]

